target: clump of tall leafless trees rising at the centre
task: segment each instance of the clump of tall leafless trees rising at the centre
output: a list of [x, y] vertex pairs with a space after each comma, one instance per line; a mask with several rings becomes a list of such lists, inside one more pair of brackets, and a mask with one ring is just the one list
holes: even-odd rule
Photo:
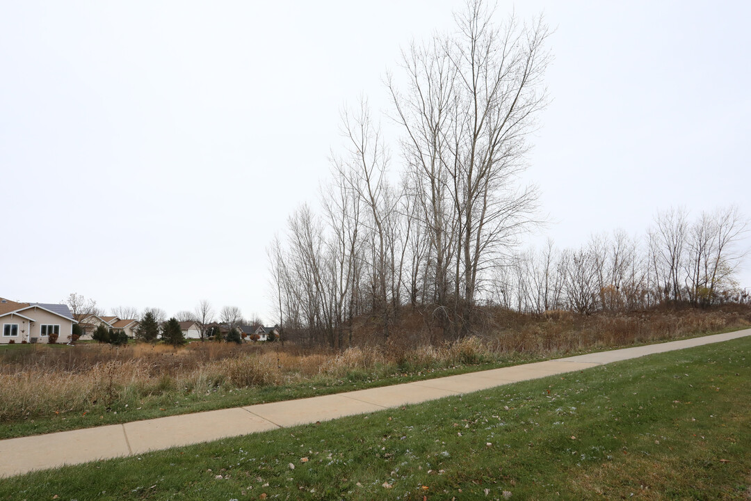
[[479, 0], [455, 21], [388, 75], [400, 168], [391, 171], [363, 98], [342, 113], [345, 147], [333, 155], [322, 213], [300, 207], [270, 246], [288, 332], [343, 346], [352, 318], [368, 312], [388, 340], [412, 303], [430, 305], [429, 321], [448, 337], [463, 336], [492, 270], [535, 223], [537, 192], [517, 177], [546, 103], [547, 26], [495, 23]]

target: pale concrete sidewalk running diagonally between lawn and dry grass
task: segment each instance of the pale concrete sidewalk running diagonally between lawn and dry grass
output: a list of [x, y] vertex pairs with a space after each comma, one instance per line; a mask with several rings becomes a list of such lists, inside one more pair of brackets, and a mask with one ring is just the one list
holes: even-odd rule
[[64, 464], [143, 454], [228, 436], [327, 421], [749, 335], [751, 329], [738, 330], [403, 385], [0, 440], [0, 478]]

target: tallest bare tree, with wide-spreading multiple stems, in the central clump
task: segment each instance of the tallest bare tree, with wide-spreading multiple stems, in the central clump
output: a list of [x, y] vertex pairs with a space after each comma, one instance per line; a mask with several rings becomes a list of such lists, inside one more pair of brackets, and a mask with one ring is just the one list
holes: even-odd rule
[[484, 271], [534, 221], [537, 199], [535, 189], [517, 186], [517, 176], [526, 166], [526, 138], [546, 103], [547, 26], [541, 20], [520, 26], [513, 17], [498, 26], [492, 17], [481, 0], [468, 2], [455, 16], [455, 35], [413, 46], [404, 56], [406, 93], [389, 80], [397, 121], [407, 133], [406, 159], [425, 190], [439, 303], [448, 299], [445, 260], [451, 244], [458, 245], [457, 335], [470, 330]]

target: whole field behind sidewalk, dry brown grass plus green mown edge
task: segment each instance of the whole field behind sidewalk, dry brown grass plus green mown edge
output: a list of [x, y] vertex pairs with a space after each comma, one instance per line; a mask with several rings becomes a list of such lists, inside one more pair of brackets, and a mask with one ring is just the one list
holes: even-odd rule
[[748, 306], [504, 311], [481, 337], [445, 343], [424, 337], [412, 313], [403, 312], [388, 343], [343, 352], [295, 343], [0, 346], [0, 439], [393, 385], [751, 324]]

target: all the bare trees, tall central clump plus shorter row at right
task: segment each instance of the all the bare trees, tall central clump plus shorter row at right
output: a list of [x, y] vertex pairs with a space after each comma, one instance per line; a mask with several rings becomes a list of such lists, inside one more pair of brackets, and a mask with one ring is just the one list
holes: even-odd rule
[[342, 112], [321, 210], [305, 204], [268, 253], [288, 339], [342, 348], [355, 318], [388, 340], [411, 305], [448, 339], [472, 333], [478, 306], [521, 311], [713, 303], [731, 286], [745, 226], [735, 209], [689, 225], [672, 210], [646, 240], [623, 232], [581, 249], [516, 251], [538, 223], [538, 193], [520, 183], [529, 135], [546, 104], [550, 56], [541, 20], [503, 23], [480, 0], [454, 31], [403, 52], [388, 74], [400, 160], [366, 99]]

